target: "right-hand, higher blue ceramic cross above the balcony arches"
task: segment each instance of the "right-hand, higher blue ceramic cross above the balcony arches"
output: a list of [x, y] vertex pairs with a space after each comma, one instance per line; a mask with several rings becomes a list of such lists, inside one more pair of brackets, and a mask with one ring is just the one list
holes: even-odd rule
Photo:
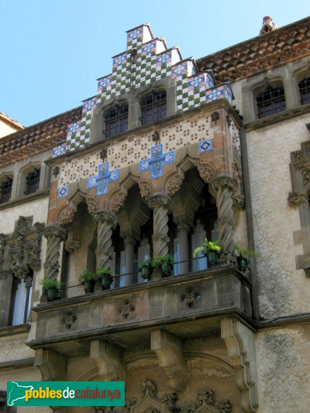
[[163, 176], [163, 165], [174, 162], [174, 151], [163, 153], [163, 144], [151, 147], [151, 158], [140, 161], [140, 172], [151, 171], [151, 179]]

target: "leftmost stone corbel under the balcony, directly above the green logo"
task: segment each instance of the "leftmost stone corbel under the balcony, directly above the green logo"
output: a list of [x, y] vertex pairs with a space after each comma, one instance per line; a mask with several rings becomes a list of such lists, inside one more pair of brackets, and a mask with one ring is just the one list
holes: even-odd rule
[[34, 355], [34, 366], [38, 367], [43, 381], [65, 381], [67, 361], [58, 352], [39, 348]]

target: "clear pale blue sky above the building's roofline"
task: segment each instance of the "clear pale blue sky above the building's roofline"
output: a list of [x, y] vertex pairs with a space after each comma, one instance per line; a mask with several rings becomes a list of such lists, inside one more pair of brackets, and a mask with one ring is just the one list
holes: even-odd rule
[[0, 111], [25, 126], [81, 105], [126, 50], [126, 31], [149, 23], [183, 59], [309, 15], [307, 0], [0, 0]]

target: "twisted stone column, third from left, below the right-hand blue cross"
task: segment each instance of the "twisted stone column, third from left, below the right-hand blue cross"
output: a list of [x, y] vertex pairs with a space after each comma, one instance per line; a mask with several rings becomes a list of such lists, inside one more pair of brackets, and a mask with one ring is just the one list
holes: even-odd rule
[[169, 250], [168, 213], [172, 209], [172, 201], [167, 195], [153, 195], [149, 198], [149, 208], [153, 214], [153, 256], [167, 255]]

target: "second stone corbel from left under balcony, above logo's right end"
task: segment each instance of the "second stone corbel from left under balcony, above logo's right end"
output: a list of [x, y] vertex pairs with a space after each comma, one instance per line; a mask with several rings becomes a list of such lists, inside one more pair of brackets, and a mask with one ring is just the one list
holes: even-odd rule
[[125, 379], [125, 369], [121, 359], [121, 348], [105, 340], [90, 342], [90, 359], [98, 367], [98, 374], [103, 381]]

